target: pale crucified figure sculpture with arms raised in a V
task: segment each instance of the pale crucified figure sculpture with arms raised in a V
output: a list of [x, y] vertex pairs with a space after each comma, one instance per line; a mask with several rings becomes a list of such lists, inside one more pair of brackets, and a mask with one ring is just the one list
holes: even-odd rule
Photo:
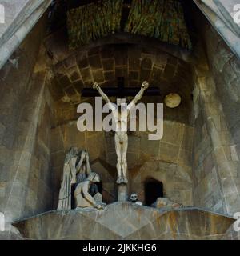
[[[126, 171], [127, 171], [127, 162], [126, 162], [126, 151], [128, 146], [128, 137], [127, 137], [127, 122], [129, 120], [130, 111], [134, 108], [135, 104], [142, 98], [144, 91], [148, 88], [148, 82], [142, 82], [142, 88], [135, 96], [135, 98], [130, 102], [130, 104], [122, 104], [117, 106], [116, 104], [110, 102], [110, 99], [102, 91], [101, 87], [97, 82], [94, 82], [93, 88], [98, 90], [98, 93], [102, 96], [103, 100], [108, 104], [115, 122], [115, 150], [117, 153], [117, 170], [118, 170], [118, 179], [117, 183], [127, 183]], [[120, 109], [120, 110], [118, 110]]]

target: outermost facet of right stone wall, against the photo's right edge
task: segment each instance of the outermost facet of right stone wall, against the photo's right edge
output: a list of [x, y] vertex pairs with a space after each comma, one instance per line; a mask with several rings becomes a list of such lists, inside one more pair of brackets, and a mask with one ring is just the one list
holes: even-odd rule
[[233, 137], [232, 153], [240, 165], [240, 60], [210, 26], [206, 30], [206, 51], [210, 70], [214, 75], [218, 97], [222, 103], [230, 133]]

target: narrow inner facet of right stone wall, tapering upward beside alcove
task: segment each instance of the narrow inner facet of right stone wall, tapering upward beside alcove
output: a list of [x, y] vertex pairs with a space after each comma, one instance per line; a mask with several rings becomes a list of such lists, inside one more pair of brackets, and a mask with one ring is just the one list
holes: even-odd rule
[[208, 129], [205, 102], [200, 98], [200, 91], [196, 90], [198, 89], [194, 91], [194, 98], [198, 109], [195, 110], [193, 150], [194, 206], [222, 213], [225, 212], [226, 208], [224, 209], [224, 202], [222, 201], [218, 166], [214, 159], [214, 146]]

